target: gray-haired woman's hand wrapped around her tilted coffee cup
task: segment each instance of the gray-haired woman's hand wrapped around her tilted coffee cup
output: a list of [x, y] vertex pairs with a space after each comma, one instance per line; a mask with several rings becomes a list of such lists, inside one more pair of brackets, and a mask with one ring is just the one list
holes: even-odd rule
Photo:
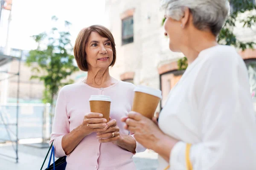
[[122, 122], [125, 122], [125, 129], [134, 133], [134, 138], [144, 147], [154, 150], [157, 142], [164, 138], [165, 134], [160, 130], [151, 119], [131, 111], [128, 117], [123, 117]]

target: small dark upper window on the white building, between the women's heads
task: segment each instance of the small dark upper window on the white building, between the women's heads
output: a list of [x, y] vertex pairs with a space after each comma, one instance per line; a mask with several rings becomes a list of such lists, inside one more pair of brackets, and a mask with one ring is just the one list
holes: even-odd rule
[[122, 45], [134, 42], [133, 16], [122, 20]]

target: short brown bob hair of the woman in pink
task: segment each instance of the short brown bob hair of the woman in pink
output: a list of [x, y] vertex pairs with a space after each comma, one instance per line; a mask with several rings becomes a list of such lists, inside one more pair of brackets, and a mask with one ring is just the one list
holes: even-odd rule
[[86, 43], [89, 39], [89, 36], [92, 32], [96, 32], [102, 37], [108, 38], [111, 41], [112, 50], [113, 50], [113, 61], [111, 62], [110, 66], [113, 66], [116, 62], [116, 45], [115, 40], [111, 32], [108, 30], [108, 28], [100, 25], [93, 25], [89, 26], [87, 28], [83, 28], [77, 38], [76, 43], [74, 46], [74, 56], [77, 62], [78, 67], [81, 71], [88, 71], [88, 63], [86, 61]]

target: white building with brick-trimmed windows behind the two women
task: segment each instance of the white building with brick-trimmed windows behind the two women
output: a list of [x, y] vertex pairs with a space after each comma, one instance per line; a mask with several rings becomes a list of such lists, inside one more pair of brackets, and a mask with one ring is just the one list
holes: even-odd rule
[[[163, 106], [169, 91], [183, 74], [177, 70], [177, 60], [184, 56], [169, 50], [169, 40], [161, 26], [164, 13], [159, 5], [160, 0], [106, 0], [105, 8], [117, 51], [111, 75], [135, 85], [161, 89]], [[235, 30], [240, 40], [256, 40], [255, 27], [246, 33], [241, 30], [241, 25]], [[255, 91], [256, 66], [252, 62], [255, 62], [256, 51], [246, 50], [241, 56], [247, 63], [250, 61], [247, 66], [250, 67], [251, 91]]]

